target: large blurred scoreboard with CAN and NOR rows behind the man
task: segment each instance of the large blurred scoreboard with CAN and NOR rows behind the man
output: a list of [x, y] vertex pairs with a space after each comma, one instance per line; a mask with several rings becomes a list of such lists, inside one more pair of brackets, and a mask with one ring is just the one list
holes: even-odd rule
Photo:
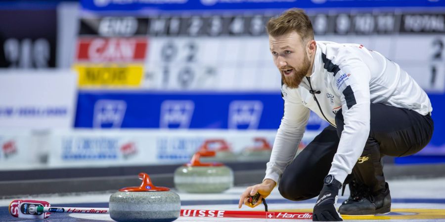
[[[414, 9], [306, 11], [315, 40], [360, 43], [399, 63], [428, 92], [443, 93], [445, 10]], [[277, 91], [265, 25], [284, 10], [86, 10], [76, 53], [81, 86]]]

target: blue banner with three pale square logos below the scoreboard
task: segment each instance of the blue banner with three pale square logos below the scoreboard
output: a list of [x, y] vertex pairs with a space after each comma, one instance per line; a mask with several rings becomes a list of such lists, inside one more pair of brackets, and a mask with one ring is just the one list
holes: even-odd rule
[[[274, 93], [79, 93], [75, 127], [278, 129], [283, 100]], [[321, 121], [313, 121], [319, 128]]]

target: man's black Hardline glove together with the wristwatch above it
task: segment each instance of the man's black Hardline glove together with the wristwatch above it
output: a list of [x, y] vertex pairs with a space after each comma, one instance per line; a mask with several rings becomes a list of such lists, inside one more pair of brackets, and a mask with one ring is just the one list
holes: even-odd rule
[[327, 175], [324, 178], [323, 188], [313, 207], [312, 221], [343, 221], [334, 206], [341, 187], [342, 183], [335, 180], [334, 176]]

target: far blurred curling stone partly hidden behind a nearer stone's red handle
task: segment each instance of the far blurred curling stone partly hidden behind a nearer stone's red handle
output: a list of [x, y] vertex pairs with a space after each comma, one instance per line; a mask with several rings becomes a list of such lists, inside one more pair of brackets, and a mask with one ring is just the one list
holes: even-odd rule
[[204, 144], [198, 148], [199, 151], [215, 151], [216, 154], [213, 157], [203, 156], [203, 162], [233, 162], [236, 161], [236, 155], [233, 153], [225, 140], [215, 139], [206, 140]]

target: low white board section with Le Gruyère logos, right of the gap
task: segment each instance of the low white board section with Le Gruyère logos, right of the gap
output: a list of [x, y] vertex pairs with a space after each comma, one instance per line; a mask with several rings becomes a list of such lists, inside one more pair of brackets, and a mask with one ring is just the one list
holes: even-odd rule
[[49, 167], [119, 166], [185, 163], [205, 140], [222, 139], [240, 153], [255, 138], [273, 144], [276, 130], [69, 130], [54, 132], [48, 155]]

